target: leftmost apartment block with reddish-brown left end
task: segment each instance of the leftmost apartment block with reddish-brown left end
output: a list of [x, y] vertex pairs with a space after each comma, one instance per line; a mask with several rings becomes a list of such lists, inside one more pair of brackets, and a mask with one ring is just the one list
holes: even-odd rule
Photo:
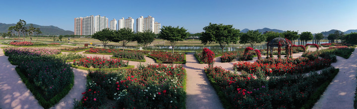
[[97, 16], [87, 16], [74, 18], [74, 35], [93, 35], [97, 31], [108, 28], [108, 18]]

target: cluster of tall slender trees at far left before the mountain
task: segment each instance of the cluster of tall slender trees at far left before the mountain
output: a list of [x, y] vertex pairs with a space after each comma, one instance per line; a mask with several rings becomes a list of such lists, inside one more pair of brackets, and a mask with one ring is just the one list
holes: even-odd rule
[[[25, 41], [26, 36], [31, 37], [34, 34], [38, 35], [38, 34], [42, 33], [40, 28], [35, 28], [33, 26], [33, 24], [30, 24], [29, 27], [26, 27], [25, 25], [26, 25], [26, 21], [20, 19], [20, 21], [18, 21], [15, 26], [10, 26], [8, 28], [7, 33], [1, 33], [0, 35], [2, 37], [12, 37], [12, 36], [17, 35], [19, 37], [19, 39], [20, 39], [20, 35], [21, 35]], [[31, 40], [32, 40], [32, 38], [31, 38]]]

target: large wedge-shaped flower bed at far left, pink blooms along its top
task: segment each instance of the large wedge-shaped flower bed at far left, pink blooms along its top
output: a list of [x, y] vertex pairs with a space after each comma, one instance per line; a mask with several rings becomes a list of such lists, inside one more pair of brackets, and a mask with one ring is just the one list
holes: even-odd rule
[[68, 64], [56, 58], [58, 50], [4, 48], [27, 88], [45, 109], [57, 104], [72, 88], [74, 74]]

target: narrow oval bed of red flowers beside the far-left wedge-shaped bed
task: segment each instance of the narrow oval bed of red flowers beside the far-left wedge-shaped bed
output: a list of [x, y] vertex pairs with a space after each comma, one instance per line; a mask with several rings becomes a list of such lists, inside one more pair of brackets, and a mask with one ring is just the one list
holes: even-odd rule
[[73, 60], [73, 65], [86, 68], [119, 68], [128, 66], [128, 61], [116, 59], [105, 59], [100, 57], [86, 57], [79, 60]]

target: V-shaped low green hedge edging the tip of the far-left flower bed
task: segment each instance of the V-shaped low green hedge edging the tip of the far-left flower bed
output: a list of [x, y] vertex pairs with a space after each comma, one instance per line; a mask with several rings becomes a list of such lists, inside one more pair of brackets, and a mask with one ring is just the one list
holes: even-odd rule
[[72, 77], [71, 77], [72, 81], [70, 81], [70, 83], [67, 86], [65, 86], [63, 90], [60, 91], [55, 97], [53, 97], [49, 101], [46, 101], [45, 98], [42, 97], [41, 93], [38, 90], [36, 90], [37, 88], [33, 84], [31, 84], [28, 78], [23, 74], [24, 71], [18, 68], [18, 66], [15, 68], [15, 70], [17, 74], [20, 76], [22, 82], [26, 85], [27, 89], [31, 91], [32, 95], [34, 95], [36, 100], [38, 100], [39, 104], [44, 109], [49, 109], [54, 105], [56, 105], [58, 102], [60, 102], [60, 100], [63, 99], [69, 93], [69, 91], [72, 89], [74, 84], [74, 73], [72, 71]]

